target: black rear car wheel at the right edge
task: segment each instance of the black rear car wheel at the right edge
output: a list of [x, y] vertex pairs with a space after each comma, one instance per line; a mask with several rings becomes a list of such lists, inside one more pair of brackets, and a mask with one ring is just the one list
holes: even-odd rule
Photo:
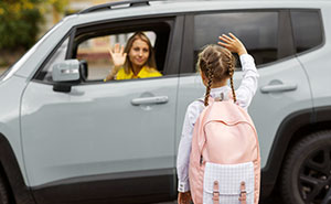
[[331, 204], [331, 131], [312, 133], [289, 152], [281, 193], [290, 204]]

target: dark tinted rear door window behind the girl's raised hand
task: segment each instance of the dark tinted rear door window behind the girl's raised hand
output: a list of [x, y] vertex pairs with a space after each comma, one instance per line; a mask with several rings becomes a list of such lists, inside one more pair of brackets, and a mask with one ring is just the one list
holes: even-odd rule
[[218, 35], [228, 32], [234, 33], [245, 43], [257, 65], [279, 60], [278, 15], [277, 11], [225, 12], [195, 15], [195, 62], [197, 53], [204, 45], [217, 43]]

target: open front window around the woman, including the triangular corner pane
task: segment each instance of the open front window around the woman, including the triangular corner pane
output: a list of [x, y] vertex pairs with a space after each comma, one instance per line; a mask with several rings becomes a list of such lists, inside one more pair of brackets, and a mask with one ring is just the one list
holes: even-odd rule
[[34, 79], [53, 84], [53, 65], [77, 58], [81, 71], [84, 71], [81, 72], [81, 83], [103, 82], [113, 68], [109, 49], [116, 43], [126, 45], [127, 40], [136, 32], [143, 32], [150, 40], [158, 72], [162, 76], [173, 74], [167, 67], [173, 23], [173, 18], [166, 18], [77, 25], [56, 45]]

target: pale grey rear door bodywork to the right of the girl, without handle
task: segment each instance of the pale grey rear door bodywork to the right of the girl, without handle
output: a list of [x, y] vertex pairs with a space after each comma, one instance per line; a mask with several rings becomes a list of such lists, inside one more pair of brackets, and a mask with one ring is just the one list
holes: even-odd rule
[[[297, 58], [258, 69], [258, 89], [248, 109], [256, 126], [261, 154], [261, 168], [269, 158], [275, 136], [289, 112], [312, 109], [312, 98], [307, 75]], [[297, 88], [264, 93], [269, 85], [293, 85]], [[266, 122], [268, 121], [268, 122]]]

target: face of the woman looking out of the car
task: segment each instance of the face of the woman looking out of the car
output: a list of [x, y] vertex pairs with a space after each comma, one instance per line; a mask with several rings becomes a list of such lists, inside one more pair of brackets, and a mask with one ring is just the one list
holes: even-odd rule
[[129, 60], [132, 63], [132, 66], [141, 67], [147, 62], [148, 57], [149, 57], [148, 44], [145, 41], [137, 39], [132, 43], [132, 46], [129, 52]]

